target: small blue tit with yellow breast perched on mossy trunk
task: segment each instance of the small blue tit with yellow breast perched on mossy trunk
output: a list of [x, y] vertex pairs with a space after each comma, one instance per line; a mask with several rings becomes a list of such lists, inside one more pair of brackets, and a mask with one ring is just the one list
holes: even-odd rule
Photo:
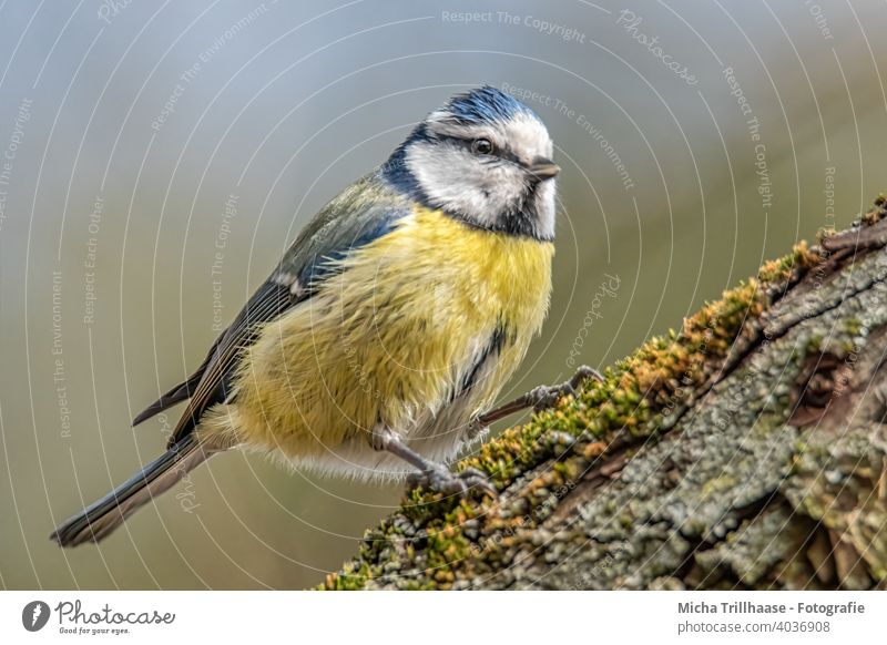
[[51, 534], [99, 542], [212, 455], [243, 449], [358, 481], [496, 494], [450, 472], [489, 424], [541, 409], [583, 367], [493, 409], [551, 295], [553, 143], [491, 85], [451, 96], [329, 201], [184, 382], [133, 420], [187, 401], [167, 450]]

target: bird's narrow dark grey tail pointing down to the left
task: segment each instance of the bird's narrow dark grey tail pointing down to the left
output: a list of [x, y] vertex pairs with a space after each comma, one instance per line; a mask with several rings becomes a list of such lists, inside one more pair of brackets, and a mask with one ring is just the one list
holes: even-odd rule
[[217, 452], [194, 434], [187, 434], [140, 473], [101, 500], [70, 518], [50, 535], [60, 546], [99, 542], [120, 526], [136, 509], [172, 488], [188, 471]]

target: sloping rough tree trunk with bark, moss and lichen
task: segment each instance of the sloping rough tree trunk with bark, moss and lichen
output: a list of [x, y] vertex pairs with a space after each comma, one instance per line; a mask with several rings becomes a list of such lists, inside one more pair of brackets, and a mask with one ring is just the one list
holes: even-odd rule
[[415, 490], [326, 588], [887, 586], [887, 209]]

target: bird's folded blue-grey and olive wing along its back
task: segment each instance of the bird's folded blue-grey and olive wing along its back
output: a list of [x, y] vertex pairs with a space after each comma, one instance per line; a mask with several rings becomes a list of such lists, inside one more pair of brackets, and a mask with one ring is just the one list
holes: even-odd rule
[[[171, 391], [170, 398], [174, 398], [180, 396], [180, 389], [185, 388], [191, 400], [170, 437], [170, 446], [191, 433], [203, 412], [231, 393], [231, 381], [243, 349], [255, 341], [261, 326], [310, 298], [324, 280], [335, 274], [336, 267], [340, 266], [338, 260], [389, 233], [409, 213], [409, 202], [377, 173], [356, 182], [327, 204], [302, 231], [271, 277], [256, 289], [216, 340], [202, 370], [198, 370], [200, 377], [195, 372], [194, 377]], [[195, 381], [194, 386], [191, 386], [192, 381]], [[164, 402], [161, 398], [136, 419]]]

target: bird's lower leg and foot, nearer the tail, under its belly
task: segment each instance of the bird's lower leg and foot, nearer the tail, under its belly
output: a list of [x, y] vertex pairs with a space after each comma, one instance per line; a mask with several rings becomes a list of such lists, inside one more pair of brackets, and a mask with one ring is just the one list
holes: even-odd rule
[[407, 479], [410, 487], [421, 485], [443, 494], [458, 495], [467, 495], [470, 489], [476, 488], [492, 496], [498, 495], [487, 475], [478, 469], [467, 468], [462, 472], [452, 473], [446, 465], [426, 459], [412, 450], [387, 427], [373, 431], [371, 444], [376, 450], [396, 454], [416, 468], [417, 472]]

